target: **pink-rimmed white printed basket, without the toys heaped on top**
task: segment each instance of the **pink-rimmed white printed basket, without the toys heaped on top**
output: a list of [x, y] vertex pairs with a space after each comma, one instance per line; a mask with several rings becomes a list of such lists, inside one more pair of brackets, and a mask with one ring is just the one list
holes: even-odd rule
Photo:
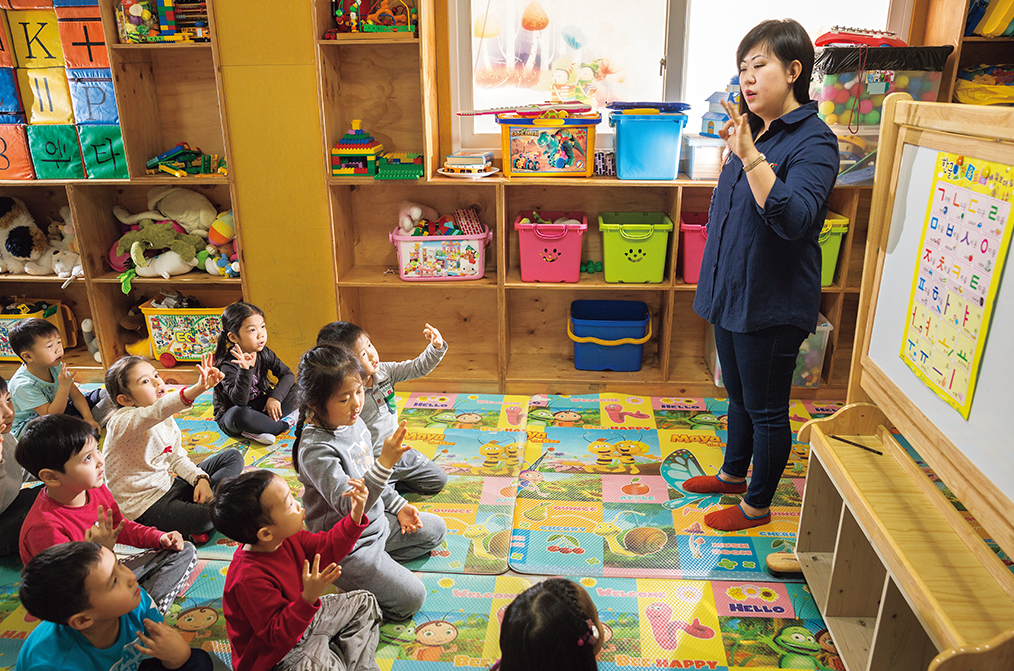
[[476, 235], [389, 234], [397, 250], [399, 276], [408, 282], [478, 280], [486, 274], [486, 245], [493, 239], [489, 226]]

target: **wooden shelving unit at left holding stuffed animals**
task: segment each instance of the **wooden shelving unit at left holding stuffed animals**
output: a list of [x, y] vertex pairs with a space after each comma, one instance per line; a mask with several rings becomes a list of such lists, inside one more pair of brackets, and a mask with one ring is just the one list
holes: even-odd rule
[[[64, 289], [64, 280], [56, 276], [0, 275], [0, 296], [59, 299], [70, 304], [78, 321], [94, 321], [101, 362], [88, 355], [80, 338], [65, 355], [79, 382], [100, 381], [104, 369], [126, 353], [124, 345], [135, 337], [119, 327], [120, 319], [160, 289], [176, 289], [212, 307], [224, 307], [244, 295], [242, 273], [238, 279], [223, 279], [203, 269], [169, 280], [136, 278], [125, 294], [118, 273], [110, 267], [107, 252], [123, 230], [113, 215], [114, 206], [131, 213], [146, 211], [148, 191], [170, 184], [205, 195], [218, 212], [224, 212], [233, 207], [233, 194], [231, 175], [145, 174], [147, 159], [179, 142], [228, 160], [212, 3], [208, 2], [211, 43], [151, 45], [118, 44], [113, 0], [100, 0], [99, 5], [130, 179], [0, 181], [0, 195], [24, 201], [44, 230], [51, 219], [59, 218], [61, 206], [71, 208], [84, 277]], [[242, 224], [238, 216], [236, 221], [241, 265]], [[9, 378], [17, 366], [0, 364], [0, 375]], [[180, 364], [163, 374], [173, 381], [190, 380], [196, 377], [196, 367]]]

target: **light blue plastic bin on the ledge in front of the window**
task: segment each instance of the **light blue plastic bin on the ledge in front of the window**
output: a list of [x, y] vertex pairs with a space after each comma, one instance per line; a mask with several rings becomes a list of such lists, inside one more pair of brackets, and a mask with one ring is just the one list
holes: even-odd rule
[[617, 176], [675, 179], [686, 115], [632, 114], [636, 111], [609, 113], [609, 126], [615, 127]]

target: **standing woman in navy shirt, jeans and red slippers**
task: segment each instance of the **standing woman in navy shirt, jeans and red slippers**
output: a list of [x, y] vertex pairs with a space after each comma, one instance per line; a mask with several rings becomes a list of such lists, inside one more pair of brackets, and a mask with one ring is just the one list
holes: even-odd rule
[[[817, 324], [817, 236], [838, 173], [838, 141], [809, 98], [813, 46], [792, 19], [764, 21], [736, 51], [739, 108], [724, 103], [729, 152], [711, 200], [694, 309], [715, 324], [729, 396], [725, 462], [690, 492], [745, 493], [709, 513], [714, 529], [771, 522], [789, 459], [796, 354]], [[753, 461], [749, 486], [746, 471]]]

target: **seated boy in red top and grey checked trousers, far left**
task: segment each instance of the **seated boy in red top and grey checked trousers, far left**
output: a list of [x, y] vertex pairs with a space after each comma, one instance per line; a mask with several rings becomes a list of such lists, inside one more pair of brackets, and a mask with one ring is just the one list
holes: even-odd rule
[[17, 462], [46, 486], [21, 526], [21, 562], [48, 547], [90, 540], [113, 549], [119, 541], [152, 551], [124, 558], [141, 587], [166, 612], [197, 565], [197, 549], [168, 533], [124, 519], [102, 484], [98, 434], [83, 420], [47, 415], [28, 423], [14, 451]]

